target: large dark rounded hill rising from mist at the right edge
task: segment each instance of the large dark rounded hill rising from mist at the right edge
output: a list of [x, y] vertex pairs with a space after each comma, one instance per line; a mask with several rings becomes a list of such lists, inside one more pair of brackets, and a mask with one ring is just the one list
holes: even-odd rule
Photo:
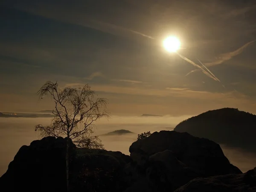
[[180, 122], [174, 129], [217, 143], [256, 150], [256, 115], [235, 108], [201, 113]]

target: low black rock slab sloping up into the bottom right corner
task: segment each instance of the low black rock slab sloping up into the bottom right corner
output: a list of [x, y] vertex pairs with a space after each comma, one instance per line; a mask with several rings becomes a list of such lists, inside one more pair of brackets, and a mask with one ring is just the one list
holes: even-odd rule
[[256, 192], [256, 168], [244, 174], [195, 178], [175, 192]]

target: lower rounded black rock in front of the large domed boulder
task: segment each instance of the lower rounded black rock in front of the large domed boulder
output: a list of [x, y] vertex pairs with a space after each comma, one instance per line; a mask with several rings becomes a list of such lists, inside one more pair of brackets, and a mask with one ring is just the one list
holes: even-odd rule
[[186, 167], [177, 160], [172, 151], [165, 150], [151, 155], [143, 168], [137, 167], [134, 185], [125, 192], [172, 192], [202, 174], [197, 170]]

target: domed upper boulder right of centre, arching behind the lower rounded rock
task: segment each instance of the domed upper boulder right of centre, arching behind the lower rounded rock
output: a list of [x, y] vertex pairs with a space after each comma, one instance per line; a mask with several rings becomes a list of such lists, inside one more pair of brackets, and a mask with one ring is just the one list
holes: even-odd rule
[[220, 145], [188, 133], [154, 132], [151, 136], [132, 143], [129, 148], [131, 158], [139, 164], [143, 164], [149, 156], [165, 150], [172, 151], [177, 160], [206, 177], [241, 173], [230, 164]]

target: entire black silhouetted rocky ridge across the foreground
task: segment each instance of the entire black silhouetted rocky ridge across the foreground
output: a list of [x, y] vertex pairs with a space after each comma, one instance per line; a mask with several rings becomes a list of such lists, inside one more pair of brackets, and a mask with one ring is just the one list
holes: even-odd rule
[[[65, 192], [66, 145], [66, 138], [45, 137], [22, 146], [0, 177], [1, 191]], [[255, 189], [256, 172], [242, 174], [208, 139], [160, 131], [129, 151], [130, 156], [70, 143], [71, 192], [219, 192], [230, 182], [236, 186], [226, 187], [229, 192]]]

